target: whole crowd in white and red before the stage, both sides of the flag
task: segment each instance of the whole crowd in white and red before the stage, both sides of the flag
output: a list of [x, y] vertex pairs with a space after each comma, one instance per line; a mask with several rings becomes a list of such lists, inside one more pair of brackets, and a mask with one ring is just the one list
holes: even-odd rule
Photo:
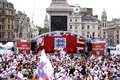
[[[54, 69], [54, 80], [120, 80], [120, 55], [81, 56], [57, 51], [47, 54]], [[0, 56], [0, 80], [36, 80], [38, 55]]]

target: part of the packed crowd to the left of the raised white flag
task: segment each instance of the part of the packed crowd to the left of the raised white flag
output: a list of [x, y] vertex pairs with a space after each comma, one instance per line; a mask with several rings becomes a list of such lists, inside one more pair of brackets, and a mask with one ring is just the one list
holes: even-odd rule
[[0, 80], [35, 80], [36, 55], [12, 54], [0, 56]]

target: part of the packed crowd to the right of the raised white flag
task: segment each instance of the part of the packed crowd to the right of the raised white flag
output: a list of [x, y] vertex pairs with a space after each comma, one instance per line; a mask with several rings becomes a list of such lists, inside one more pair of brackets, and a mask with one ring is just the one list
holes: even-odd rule
[[52, 55], [51, 62], [55, 80], [120, 80], [119, 55], [82, 60], [80, 56], [58, 52]]

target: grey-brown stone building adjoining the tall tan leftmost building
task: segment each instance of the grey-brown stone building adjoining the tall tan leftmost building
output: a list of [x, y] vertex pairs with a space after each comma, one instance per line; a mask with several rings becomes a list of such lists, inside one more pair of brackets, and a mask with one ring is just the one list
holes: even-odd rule
[[32, 37], [30, 18], [21, 11], [15, 15], [15, 40], [30, 40]]

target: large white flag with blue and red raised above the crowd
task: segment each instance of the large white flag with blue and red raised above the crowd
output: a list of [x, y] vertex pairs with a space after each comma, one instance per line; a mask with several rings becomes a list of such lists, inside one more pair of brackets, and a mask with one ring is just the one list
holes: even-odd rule
[[45, 54], [45, 50], [40, 52], [40, 61], [38, 65], [38, 80], [53, 80], [54, 70], [50, 60]]

